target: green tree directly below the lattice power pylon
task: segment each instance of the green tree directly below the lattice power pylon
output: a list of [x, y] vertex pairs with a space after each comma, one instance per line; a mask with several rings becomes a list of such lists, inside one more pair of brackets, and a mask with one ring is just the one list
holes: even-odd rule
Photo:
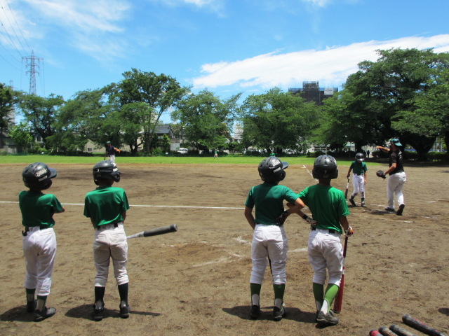
[[47, 98], [26, 94], [19, 105], [25, 119], [31, 124], [32, 132], [39, 134], [45, 145], [48, 137], [55, 134], [58, 113], [64, 103], [62, 96], [55, 94]]

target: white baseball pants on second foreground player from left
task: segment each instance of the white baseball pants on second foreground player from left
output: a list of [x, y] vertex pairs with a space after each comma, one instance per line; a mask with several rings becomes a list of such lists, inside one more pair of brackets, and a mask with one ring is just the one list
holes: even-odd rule
[[123, 223], [119, 223], [117, 228], [114, 228], [112, 224], [101, 225], [100, 228], [100, 230], [95, 229], [93, 236], [93, 262], [97, 269], [94, 286], [106, 287], [111, 258], [117, 286], [128, 283], [126, 273], [128, 241], [126, 241]]

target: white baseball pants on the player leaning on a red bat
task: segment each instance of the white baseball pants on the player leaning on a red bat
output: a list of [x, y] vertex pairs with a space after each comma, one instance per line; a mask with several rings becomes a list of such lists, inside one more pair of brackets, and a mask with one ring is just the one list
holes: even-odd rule
[[314, 283], [324, 285], [326, 268], [329, 283], [340, 286], [343, 273], [343, 247], [340, 233], [329, 233], [329, 230], [315, 229], [309, 234], [307, 254], [311, 268], [314, 270]]

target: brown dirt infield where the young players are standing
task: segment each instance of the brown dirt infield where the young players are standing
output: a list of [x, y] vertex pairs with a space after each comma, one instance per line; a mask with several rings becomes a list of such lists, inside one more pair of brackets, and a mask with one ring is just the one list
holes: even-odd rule
[[[16, 202], [25, 187], [25, 165], [0, 165], [1, 202]], [[368, 335], [380, 325], [401, 323], [403, 314], [449, 332], [448, 167], [406, 167], [403, 216], [387, 214], [387, 181], [370, 169], [367, 208], [349, 206], [349, 239], [340, 324], [318, 328], [307, 260], [309, 228], [298, 216], [286, 221], [289, 253], [288, 316], [272, 321], [269, 270], [262, 285], [260, 320], [249, 319], [250, 241], [243, 216], [246, 195], [260, 183], [253, 165], [120, 165], [132, 205], [128, 235], [177, 224], [178, 232], [128, 241], [130, 318], [119, 318], [119, 297], [109, 273], [105, 318], [92, 320], [93, 228], [83, 198], [93, 190], [91, 165], [53, 165], [58, 177], [48, 193], [67, 211], [55, 215], [58, 240], [48, 304], [58, 311], [34, 323], [25, 309], [25, 258], [18, 204], [0, 203], [2, 258], [0, 335]], [[346, 186], [340, 167], [333, 186]], [[290, 166], [283, 185], [299, 192], [315, 183], [311, 167]], [[352, 188], [350, 187], [349, 192]], [[360, 199], [356, 201], [360, 204]], [[207, 209], [200, 207], [222, 207]], [[305, 211], [306, 213], [308, 211]], [[409, 327], [406, 327], [409, 328]], [[410, 329], [410, 328], [409, 328]], [[422, 335], [420, 332], [414, 332]]]

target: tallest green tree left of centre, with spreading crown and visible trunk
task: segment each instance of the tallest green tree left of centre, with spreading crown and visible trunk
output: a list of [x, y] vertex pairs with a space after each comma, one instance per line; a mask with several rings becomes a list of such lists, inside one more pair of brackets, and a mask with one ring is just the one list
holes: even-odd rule
[[189, 92], [189, 87], [181, 87], [175, 78], [163, 73], [158, 76], [154, 72], [137, 69], [124, 72], [123, 78], [118, 84], [109, 86], [112, 92], [111, 99], [120, 110], [128, 104], [133, 104], [129, 109], [139, 113], [145, 151], [149, 151], [162, 113], [166, 113], [171, 106], [182, 99]]

